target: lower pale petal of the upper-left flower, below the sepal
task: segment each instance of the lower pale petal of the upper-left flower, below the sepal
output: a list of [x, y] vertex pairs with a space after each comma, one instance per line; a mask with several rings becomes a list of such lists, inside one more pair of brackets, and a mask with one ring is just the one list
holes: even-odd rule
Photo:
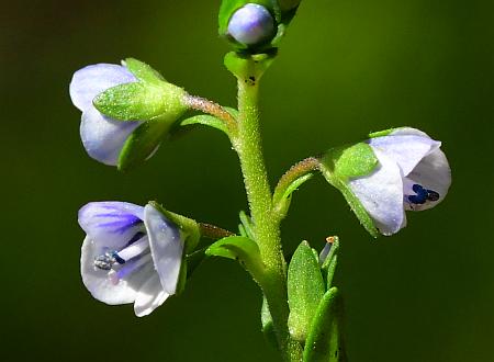
[[80, 137], [89, 156], [102, 163], [115, 166], [125, 140], [139, 124], [111, 120], [92, 106], [82, 113]]

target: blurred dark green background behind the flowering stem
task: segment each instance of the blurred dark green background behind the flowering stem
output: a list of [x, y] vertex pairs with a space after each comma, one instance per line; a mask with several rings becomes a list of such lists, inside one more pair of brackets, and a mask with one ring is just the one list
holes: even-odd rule
[[[234, 262], [205, 262], [142, 319], [92, 299], [79, 275], [77, 211], [89, 201], [156, 199], [236, 227], [246, 201], [226, 137], [199, 129], [120, 174], [87, 157], [68, 95], [75, 70], [133, 56], [234, 105], [218, 3], [2, 1], [2, 361], [277, 361], [257, 286]], [[377, 241], [322, 178], [294, 196], [287, 253], [341, 238], [351, 362], [494, 361], [493, 24], [487, 0], [304, 0], [263, 79], [273, 183], [306, 156], [400, 125], [442, 140], [451, 163], [446, 201]]]

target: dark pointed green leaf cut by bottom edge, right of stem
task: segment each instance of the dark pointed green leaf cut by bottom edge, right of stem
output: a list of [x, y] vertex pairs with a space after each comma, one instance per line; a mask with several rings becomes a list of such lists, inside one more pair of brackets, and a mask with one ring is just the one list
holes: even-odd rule
[[343, 340], [343, 301], [336, 286], [326, 292], [305, 341], [304, 362], [348, 361]]

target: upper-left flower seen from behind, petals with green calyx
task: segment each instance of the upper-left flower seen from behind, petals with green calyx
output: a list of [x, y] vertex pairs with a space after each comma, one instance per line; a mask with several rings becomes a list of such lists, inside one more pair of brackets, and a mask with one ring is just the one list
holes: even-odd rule
[[76, 71], [70, 97], [89, 156], [121, 170], [149, 158], [189, 108], [182, 88], [133, 58]]

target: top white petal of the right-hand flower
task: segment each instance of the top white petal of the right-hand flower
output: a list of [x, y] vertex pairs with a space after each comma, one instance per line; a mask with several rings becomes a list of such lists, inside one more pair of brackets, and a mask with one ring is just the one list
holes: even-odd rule
[[407, 176], [424, 157], [438, 149], [441, 144], [423, 136], [393, 135], [371, 138], [369, 145], [372, 149], [379, 149], [392, 158], [397, 162], [403, 174]]

